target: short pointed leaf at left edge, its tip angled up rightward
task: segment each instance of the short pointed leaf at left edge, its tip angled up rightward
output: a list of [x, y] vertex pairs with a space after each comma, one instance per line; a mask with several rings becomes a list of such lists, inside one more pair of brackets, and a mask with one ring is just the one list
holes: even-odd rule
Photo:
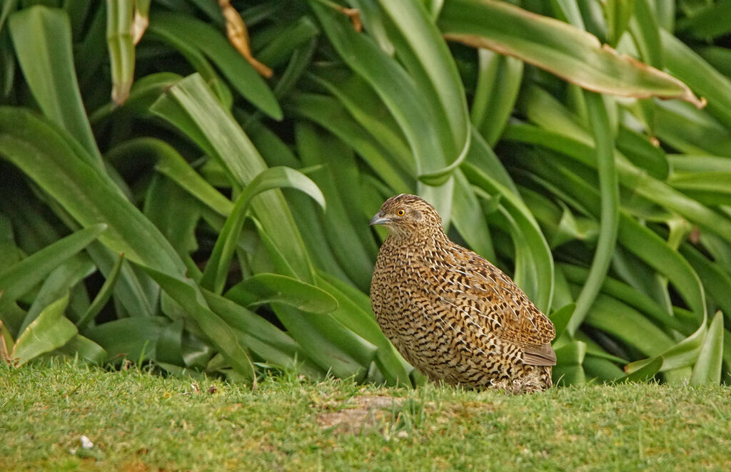
[[86, 248], [105, 229], [105, 224], [80, 229], [0, 272], [0, 305], [17, 300], [53, 269]]

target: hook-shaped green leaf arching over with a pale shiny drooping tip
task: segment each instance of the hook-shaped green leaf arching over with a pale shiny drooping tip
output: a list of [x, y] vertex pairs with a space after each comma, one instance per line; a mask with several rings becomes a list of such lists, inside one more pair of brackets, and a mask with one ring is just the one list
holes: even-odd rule
[[252, 199], [264, 191], [284, 187], [303, 191], [325, 210], [325, 197], [322, 196], [317, 184], [303, 173], [289, 167], [271, 167], [262, 171], [246, 185], [236, 199], [233, 210], [226, 219], [226, 224], [216, 240], [216, 245], [213, 246], [211, 258], [208, 259], [208, 264], [203, 271], [200, 279], [202, 287], [211, 289], [217, 294], [223, 292], [231, 258], [238, 244], [238, 237]]

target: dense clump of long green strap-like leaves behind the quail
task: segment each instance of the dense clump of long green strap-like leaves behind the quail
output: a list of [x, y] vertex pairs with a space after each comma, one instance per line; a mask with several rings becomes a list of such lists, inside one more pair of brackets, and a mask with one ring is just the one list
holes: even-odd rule
[[730, 34], [723, 1], [4, 1], [0, 357], [417, 384], [367, 223], [418, 193], [549, 313], [561, 384], [728, 382]]

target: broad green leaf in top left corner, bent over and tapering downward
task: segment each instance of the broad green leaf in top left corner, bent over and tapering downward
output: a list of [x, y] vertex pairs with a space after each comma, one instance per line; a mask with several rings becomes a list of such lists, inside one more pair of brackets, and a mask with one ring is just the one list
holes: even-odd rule
[[102, 168], [76, 80], [69, 18], [41, 6], [10, 16], [10, 36], [18, 62], [43, 113], [86, 149], [88, 164]]

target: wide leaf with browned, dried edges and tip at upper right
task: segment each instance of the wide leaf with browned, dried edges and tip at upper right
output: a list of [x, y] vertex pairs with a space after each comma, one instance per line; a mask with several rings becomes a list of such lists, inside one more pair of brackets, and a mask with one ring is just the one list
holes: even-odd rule
[[439, 28], [447, 39], [517, 57], [600, 94], [682, 99], [702, 106], [690, 88], [563, 21], [507, 1], [448, 0]]

